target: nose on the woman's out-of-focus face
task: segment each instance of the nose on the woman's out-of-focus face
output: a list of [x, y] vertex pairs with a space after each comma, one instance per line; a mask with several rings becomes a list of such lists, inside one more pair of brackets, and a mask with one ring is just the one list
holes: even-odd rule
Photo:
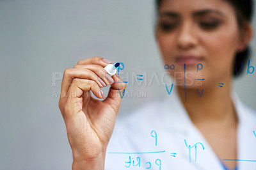
[[192, 24], [189, 24], [189, 22], [184, 23], [177, 35], [178, 47], [180, 49], [189, 49], [191, 47], [195, 47], [197, 43], [198, 40]]

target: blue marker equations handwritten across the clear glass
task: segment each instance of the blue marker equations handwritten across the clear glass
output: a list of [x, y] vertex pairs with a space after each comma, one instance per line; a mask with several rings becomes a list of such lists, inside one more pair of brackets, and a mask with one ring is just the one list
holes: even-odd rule
[[[236, 63], [236, 61], [235, 61]], [[242, 63], [243, 66], [243, 63]], [[241, 67], [242, 67], [241, 66]], [[120, 72], [120, 70], [124, 70], [124, 63], [120, 63], [120, 66], [118, 66], [118, 74]], [[164, 65], [164, 69], [171, 69], [174, 70], [175, 69], [175, 65]], [[198, 65], [196, 65], [196, 73], [200, 72], [201, 70], [204, 69], [204, 66], [202, 65], [202, 63], [198, 63]], [[255, 71], [255, 67], [254, 66], [250, 66], [250, 59], [248, 61], [248, 68], [247, 68], [247, 74], [252, 74]], [[241, 72], [241, 68], [239, 68], [239, 70], [237, 70], [236, 68], [236, 72], [237, 74], [239, 74]], [[137, 76], [137, 80], [138, 81], [143, 81], [143, 77], [144, 75], [142, 74], [136, 74]], [[200, 77], [200, 78], [196, 78], [195, 79], [196, 82], [203, 82], [205, 81], [204, 77]], [[121, 81], [121, 82], [116, 82], [116, 83], [128, 83], [128, 81]], [[165, 88], [166, 91], [168, 93], [168, 95], [171, 95], [172, 90], [173, 90], [173, 85], [172, 84], [170, 87], [165, 84]], [[216, 84], [216, 86], [218, 86], [219, 88], [224, 88], [225, 87], [225, 83], [223, 82], [219, 82], [218, 84]], [[186, 64], [184, 64], [184, 90], [185, 90], [185, 99], [186, 99]], [[198, 95], [200, 97], [203, 96], [204, 93], [204, 89], [202, 89], [201, 91], [199, 89], [196, 89]], [[118, 89], [118, 92], [120, 94], [120, 97], [123, 98], [124, 94], [125, 94], [125, 89], [123, 91], [120, 91], [120, 89]], [[253, 135], [256, 138], [256, 132], [253, 131]], [[156, 130], [152, 130], [150, 132], [150, 137], [152, 137], [154, 139], [154, 146], [157, 146], [157, 132]], [[206, 148], [204, 146], [204, 144], [197, 142], [197, 143], [189, 143], [187, 141], [187, 139], [184, 139], [184, 147], [188, 150], [188, 161], [192, 162], [192, 160], [194, 162], [196, 162], [196, 160], [198, 160], [198, 151], [204, 151]], [[195, 154], [191, 154], [192, 151], [194, 151], [193, 153]], [[143, 152], [108, 152], [108, 154], [125, 154], [128, 155], [127, 159], [124, 161], [124, 167], [126, 167], [127, 169], [129, 169], [130, 167], [141, 167], [141, 168], [146, 168], [146, 169], [162, 169], [162, 164], [163, 164], [163, 160], [161, 160], [161, 158], [155, 158], [154, 160], [145, 160], [143, 161], [142, 156], [140, 155], [147, 155], [147, 154], [163, 154], [166, 153], [166, 150], [161, 150], [161, 151], [143, 151]], [[170, 156], [170, 158], [179, 158], [179, 153], [169, 153], [168, 154]], [[256, 162], [256, 160], [246, 160], [246, 159], [223, 159], [223, 161], [246, 161], [246, 162]]]

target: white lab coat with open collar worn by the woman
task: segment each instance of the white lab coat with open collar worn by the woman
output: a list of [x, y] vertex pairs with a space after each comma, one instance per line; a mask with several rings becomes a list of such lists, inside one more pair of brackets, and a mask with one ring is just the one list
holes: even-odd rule
[[[239, 119], [238, 159], [256, 160], [256, 136], [253, 134], [253, 131], [256, 131], [256, 112], [243, 105], [236, 93], [232, 94], [232, 100]], [[156, 131], [157, 137], [152, 130]], [[189, 146], [186, 146], [184, 140], [191, 147], [196, 143], [202, 143], [204, 146], [203, 150], [202, 145], [196, 145], [196, 161], [194, 147], [191, 148], [191, 162], [189, 162]], [[138, 152], [150, 151], [164, 152], [138, 154]], [[220, 161], [204, 136], [189, 119], [174, 88], [170, 96], [143, 105], [131, 114], [116, 120], [106, 153], [105, 169], [223, 170]], [[225, 163], [228, 160], [222, 161]], [[238, 170], [256, 169], [256, 162], [239, 161], [237, 166]]]

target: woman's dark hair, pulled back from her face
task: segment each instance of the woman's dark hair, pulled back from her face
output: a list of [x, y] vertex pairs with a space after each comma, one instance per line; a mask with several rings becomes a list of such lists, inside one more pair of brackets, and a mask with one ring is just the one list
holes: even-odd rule
[[[239, 29], [242, 31], [246, 22], [252, 23], [253, 16], [253, 0], [223, 0], [230, 3], [236, 10], [236, 19]], [[156, 0], [156, 10], [159, 10], [162, 0]], [[236, 53], [236, 58], [234, 62], [233, 75], [237, 77], [243, 70], [243, 63], [251, 56], [251, 49], [248, 45], [246, 49], [241, 52]], [[236, 64], [235, 64], [236, 63]], [[239, 69], [241, 68], [241, 72]]]

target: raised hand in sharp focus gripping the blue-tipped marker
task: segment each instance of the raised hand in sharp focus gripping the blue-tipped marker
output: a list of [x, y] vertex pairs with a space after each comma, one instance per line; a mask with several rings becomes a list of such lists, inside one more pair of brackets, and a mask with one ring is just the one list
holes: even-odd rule
[[[108, 61], [107, 61], [108, 62]], [[61, 83], [59, 107], [67, 128], [74, 161], [96, 160], [106, 155], [106, 148], [115, 126], [116, 116], [126, 84], [116, 75], [110, 77], [102, 58], [84, 59], [74, 68], [67, 68]], [[111, 85], [105, 98], [100, 88]]]

